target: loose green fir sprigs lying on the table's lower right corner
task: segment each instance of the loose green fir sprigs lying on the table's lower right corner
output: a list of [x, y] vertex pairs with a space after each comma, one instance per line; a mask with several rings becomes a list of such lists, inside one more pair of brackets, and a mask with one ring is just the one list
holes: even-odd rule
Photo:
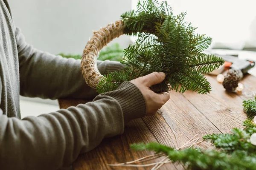
[[219, 150], [189, 148], [175, 150], [159, 143], [132, 144], [135, 150], [152, 150], [169, 157], [172, 162], [179, 162], [191, 170], [255, 170], [256, 146], [250, 143], [250, 136], [256, 133], [256, 98], [244, 100], [244, 111], [248, 119], [244, 128], [233, 128], [232, 134], [208, 134], [203, 139], [211, 142]]

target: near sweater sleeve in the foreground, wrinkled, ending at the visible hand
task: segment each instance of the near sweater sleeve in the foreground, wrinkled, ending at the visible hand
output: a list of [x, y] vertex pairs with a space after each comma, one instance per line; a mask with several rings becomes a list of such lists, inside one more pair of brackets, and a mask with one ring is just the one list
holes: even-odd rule
[[123, 133], [131, 119], [145, 116], [140, 90], [124, 82], [93, 102], [38, 117], [8, 118], [0, 110], [0, 169], [56, 170], [103, 138]]

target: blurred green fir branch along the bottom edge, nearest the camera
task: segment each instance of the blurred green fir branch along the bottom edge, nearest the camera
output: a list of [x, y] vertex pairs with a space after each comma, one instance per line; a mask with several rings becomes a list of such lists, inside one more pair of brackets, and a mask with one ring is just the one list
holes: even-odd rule
[[189, 148], [175, 150], [158, 143], [132, 144], [135, 150], [152, 150], [156, 153], [164, 153], [172, 162], [185, 164], [191, 170], [254, 170], [256, 166], [256, 154], [246, 155], [236, 151], [232, 154], [218, 152], [217, 150], [201, 150]]

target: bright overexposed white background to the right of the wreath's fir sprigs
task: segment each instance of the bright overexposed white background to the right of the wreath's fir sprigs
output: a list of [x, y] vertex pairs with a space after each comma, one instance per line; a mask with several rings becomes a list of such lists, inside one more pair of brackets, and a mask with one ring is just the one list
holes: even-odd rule
[[[162, 1], [162, 0], [160, 0]], [[256, 48], [256, 0], [167, 0], [174, 14], [187, 11], [186, 21], [198, 34], [212, 37], [215, 48]]]

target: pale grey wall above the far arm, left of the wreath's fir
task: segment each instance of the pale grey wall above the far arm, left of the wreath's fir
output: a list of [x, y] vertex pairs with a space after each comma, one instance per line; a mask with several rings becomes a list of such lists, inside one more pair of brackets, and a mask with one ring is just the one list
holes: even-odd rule
[[[93, 30], [120, 19], [131, 0], [9, 0], [26, 41], [52, 54], [81, 54]], [[125, 48], [128, 36], [115, 40]]]

